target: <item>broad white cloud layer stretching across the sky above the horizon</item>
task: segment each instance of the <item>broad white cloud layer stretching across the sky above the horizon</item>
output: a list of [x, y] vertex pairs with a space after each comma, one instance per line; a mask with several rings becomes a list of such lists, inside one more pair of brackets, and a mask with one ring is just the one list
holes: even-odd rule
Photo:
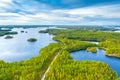
[[[104, 25], [120, 24], [112, 19], [120, 18], [120, 5], [101, 5], [77, 9], [43, 9], [38, 10], [35, 7], [20, 6], [14, 4], [13, 0], [0, 0], [0, 24], [86, 24], [86, 25]], [[1, 6], [2, 5], [2, 6]], [[18, 8], [19, 12], [8, 12], [3, 8]], [[33, 14], [27, 14], [33, 13]], [[96, 20], [99, 18], [99, 20]], [[104, 20], [106, 19], [106, 20]], [[107, 20], [110, 19], [110, 20]], [[118, 19], [120, 21], [120, 19]]]

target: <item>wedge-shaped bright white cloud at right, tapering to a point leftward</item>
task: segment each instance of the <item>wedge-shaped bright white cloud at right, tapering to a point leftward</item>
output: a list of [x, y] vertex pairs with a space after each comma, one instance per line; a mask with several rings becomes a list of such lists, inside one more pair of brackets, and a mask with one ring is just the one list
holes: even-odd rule
[[101, 16], [104, 18], [120, 18], [120, 5], [92, 6], [66, 10], [65, 13], [83, 17]]

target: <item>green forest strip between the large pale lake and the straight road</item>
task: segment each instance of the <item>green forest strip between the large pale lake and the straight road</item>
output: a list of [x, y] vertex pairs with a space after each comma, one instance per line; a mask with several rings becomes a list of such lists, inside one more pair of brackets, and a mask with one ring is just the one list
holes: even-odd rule
[[60, 45], [51, 43], [40, 50], [40, 55], [29, 60], [7, 63], [0, 61], [0, 80], [40, 80]]

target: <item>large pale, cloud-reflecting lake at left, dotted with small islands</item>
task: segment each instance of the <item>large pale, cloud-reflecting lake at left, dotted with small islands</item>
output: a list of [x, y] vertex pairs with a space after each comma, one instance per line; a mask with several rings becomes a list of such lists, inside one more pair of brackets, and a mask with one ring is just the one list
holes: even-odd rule
[[[17, 31], [17, 35], [13, 35], [12, 39], [4, 39], [5, 36], [0, 37], [0, 59], [13, 62], [29, 59], [39, 54], [39, 50], [49, 43], [54, 42], [52, 40], [53, 35], [38, 33], [39, 30], [46, 28], [14, 28], [12, 31]], [[27, 33], [21, 33], [21, 31], [27, 31]], [[28, 42], [28, 38], [36, 38], [36, 42]]]

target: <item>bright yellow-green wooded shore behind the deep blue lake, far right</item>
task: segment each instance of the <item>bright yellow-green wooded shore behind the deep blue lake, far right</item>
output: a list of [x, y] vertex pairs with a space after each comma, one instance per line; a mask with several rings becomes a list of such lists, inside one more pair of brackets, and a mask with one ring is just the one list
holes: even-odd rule
[[120, 39], [110, 39], [100, 42], [99, 47], [105, 49], [105, 55], [120, 58]]

